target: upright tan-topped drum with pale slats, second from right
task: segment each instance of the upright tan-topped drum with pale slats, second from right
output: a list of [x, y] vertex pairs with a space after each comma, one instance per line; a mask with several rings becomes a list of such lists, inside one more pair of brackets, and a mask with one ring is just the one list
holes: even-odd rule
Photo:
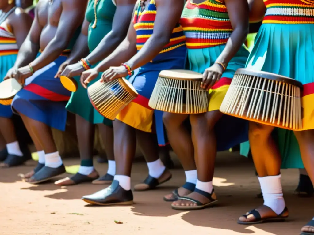
[[209, 93], [201, 88], [203, 75], [190, 70], [162, 70], [149, 107], [172, 113], [192, 114], [208, 111]]

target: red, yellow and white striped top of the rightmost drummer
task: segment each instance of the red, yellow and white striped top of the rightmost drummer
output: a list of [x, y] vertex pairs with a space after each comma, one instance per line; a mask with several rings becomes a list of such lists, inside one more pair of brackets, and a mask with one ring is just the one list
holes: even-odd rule
[[263, 24], [313, 24], [313, 0], [264, 0]]

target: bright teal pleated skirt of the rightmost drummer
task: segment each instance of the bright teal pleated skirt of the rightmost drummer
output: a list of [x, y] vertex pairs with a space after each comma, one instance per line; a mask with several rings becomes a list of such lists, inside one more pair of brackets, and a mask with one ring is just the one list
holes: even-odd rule
[[[293, 78], [302, 84], [314, 82], [314, 24], [263, 24], [255, 38], [246, 68]], [[290, 130], [275, 128], [282, 168], [304, 168], [299, 145]], [[247, 156], [249, 143], [241, 144]]]

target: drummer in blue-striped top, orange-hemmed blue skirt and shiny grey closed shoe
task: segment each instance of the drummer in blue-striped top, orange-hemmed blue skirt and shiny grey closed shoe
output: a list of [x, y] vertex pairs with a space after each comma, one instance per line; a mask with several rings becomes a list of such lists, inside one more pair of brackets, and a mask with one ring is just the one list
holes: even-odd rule
[[[96, 71], [106, 70], [104, 81], [132, 75], [140, 67], [133, 80], [139, 95], [113, 122], [116, 175], [111, 187], [83, 196], [83, 200], [101, 205], [133, 203], [130, 176], [136, 139], [148, 162], [149, 175], [142, 184], [135, 185], [135, 190], [153, 189], [171, 178], [158, 158], [157, 137], [159, 144], [165, 144], [162, 112], [149, 108], [148, 101], [160, 70], [184, 67], [185, 36], [178, 24], [183, 4], [176, 0], [138, 1], [127, 38], [97, 65]], [[81, 78], [88, 82], [84, 73]]]

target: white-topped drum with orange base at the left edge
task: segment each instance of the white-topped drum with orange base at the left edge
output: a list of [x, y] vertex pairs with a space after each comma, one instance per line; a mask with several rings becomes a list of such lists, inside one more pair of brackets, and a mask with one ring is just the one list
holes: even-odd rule
[[9, 78], [0, 83], [0, 104], [11, 105], [14, 96], [22, 89], [15, 78]]

